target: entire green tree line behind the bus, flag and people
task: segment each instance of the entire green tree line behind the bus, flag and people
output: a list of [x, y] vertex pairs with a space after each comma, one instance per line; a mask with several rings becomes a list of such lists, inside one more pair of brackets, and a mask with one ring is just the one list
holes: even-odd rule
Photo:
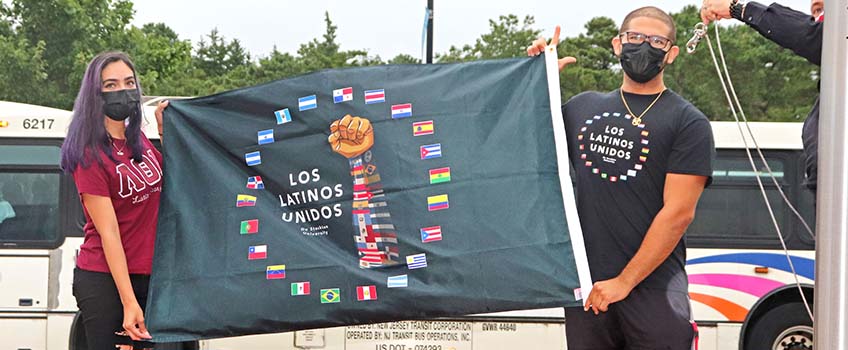
[[[301, 44], [297, 52], [275, 48], [267, 56], [252, 56], [238, 39], [227, 39], [217, 29], [192, 44], [164, 23], [130, 26], [133, 12], [131, 0], [0, 1], [0, 99], [70, 108], [86, 64], [106, 50], [129, 53], [145, 93], [166, 96], [207, 95], [328, 68], [421, 63], [408, 54], [383, 62], [366, 50], [343, 50], [329, 13], [324, 17], [325, 33]], [[672, 17], [677, 45], [684, 48], [700, 20], [698, 8], [688, 6]], [[500, 16], [489, 21], [489, 32], [473, 44], [452, 46], [436, 60], [522, 57], [541, 33], [534, 24], [531, 16]], [[584, 25], [583, 33], [559, 43], [560, 56], [578, 59], [561, 74], [564, 99], [621, 85], [622, 72], [610, 43], [617, 34], [613, 19], [596, 17]], [[818, 67], [747, 26], [725, 27], [721, 34], [732, 79], [750, 119], [790, 121], [806, 116], [816, 95]], [[665, 81], [711, 119], [731, 118], [706, 42], [694, 55], [682, 52], [666, 68]]]

